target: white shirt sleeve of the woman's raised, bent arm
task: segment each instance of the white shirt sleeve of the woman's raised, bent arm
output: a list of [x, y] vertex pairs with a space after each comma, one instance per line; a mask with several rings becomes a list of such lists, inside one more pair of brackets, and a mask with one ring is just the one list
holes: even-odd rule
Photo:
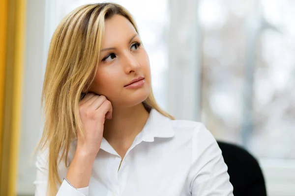
[[[46, 196], [48, 183], [48, 150], [39, 152], [36, 160], [37, 175], [33, 182], [35, 186], [35, 196]], [[62, 168], [64, 169], [64, 168]], [[62, 172], [63, 173], [63, 172]], [[64, 172], [66, 173], [66, 171]], [[57, 196], [88, 196], [89, 187], [75, 189], [65, 180], [62, 181]]]

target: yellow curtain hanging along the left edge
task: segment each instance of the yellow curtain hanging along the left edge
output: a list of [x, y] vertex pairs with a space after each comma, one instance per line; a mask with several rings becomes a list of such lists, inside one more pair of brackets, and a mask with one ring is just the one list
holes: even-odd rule
[[0, 0], [0, 196], [16, 195], [26, 0]]

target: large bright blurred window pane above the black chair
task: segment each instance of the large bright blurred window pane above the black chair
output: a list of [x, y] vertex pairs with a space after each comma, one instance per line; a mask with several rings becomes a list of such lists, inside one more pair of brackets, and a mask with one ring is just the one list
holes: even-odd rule
[[295, 3], [201, 0], [202, 120], [258, 157], [295, 159]]

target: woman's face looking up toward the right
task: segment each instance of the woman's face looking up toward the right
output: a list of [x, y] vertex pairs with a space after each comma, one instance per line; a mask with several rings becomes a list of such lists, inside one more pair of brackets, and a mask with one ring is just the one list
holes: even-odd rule
[[[130, 84], [134, 80], [139, 81]], [[131, 107], [148, 98], [150, 86], [148, 54], [140, 37], [125, 17], [113, 16], [105, 22], [99, 64], [89, 91], [106, 96], [113, 107]]]

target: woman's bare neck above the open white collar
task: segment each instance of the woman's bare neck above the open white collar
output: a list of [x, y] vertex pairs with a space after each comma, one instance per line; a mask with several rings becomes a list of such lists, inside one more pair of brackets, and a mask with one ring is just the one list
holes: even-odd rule
[[144, 128], [148, 116], [149, 113], [142, 103], [130, 108], [113, 108], [112, 119], [105, 121], [103, 137], [114, 148], [131, 146], [137, 134]]

